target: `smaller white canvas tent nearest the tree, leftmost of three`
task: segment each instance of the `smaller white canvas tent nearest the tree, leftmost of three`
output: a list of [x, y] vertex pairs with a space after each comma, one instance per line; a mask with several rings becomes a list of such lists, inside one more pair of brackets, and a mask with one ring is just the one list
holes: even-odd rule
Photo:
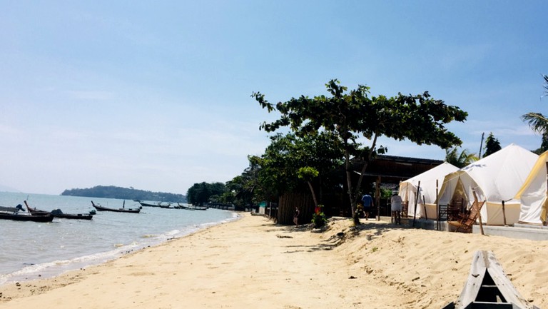
[[[449, 173], [459, 168], [451, 163], [444, 162], [435, 168], [421, 173], [400, 183], [399, 195], [408, 203], [407, 216], [416, 218], [437, 218], [436, 197], [437, 190], [442, 186], [443, 179]], [[419, 187], [420, 185], [420, 187]], [[417, 188], [419, 193], [417, 194]], [[415, 198], [417, 198], [417, 212], [415, 213]]]

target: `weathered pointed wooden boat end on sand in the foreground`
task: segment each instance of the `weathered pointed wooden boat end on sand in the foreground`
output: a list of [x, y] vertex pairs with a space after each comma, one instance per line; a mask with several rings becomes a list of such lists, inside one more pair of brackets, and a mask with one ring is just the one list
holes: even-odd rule
[[538, 309], [519, 295], [492, 251], [477, 251], [460, 297], [442, 309]]

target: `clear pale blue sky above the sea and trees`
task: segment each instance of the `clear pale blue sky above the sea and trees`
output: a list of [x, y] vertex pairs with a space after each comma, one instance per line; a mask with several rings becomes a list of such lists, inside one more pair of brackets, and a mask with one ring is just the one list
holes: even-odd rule
[[[467, 111], [447, 128], [539, 148], [547, 1], [0, 0], [0, 191], [121, 186], [185, 194], [260, 156], [270, 102], [429, 91]], [[397, 125], [397, 123], [395, 123]], [[364, 141], [368, 144], [368, 141]], [[443, 160], [382, 139], [388, 155]]]

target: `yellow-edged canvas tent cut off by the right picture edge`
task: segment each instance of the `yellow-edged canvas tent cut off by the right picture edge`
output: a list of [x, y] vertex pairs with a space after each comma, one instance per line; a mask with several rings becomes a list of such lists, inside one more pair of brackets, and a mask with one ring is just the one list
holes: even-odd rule
[[539, 156], [529, 176], [519, 189], [515, 199], [521, 203], [520, 223], [543, 224], [546, 222], [548, 151]]

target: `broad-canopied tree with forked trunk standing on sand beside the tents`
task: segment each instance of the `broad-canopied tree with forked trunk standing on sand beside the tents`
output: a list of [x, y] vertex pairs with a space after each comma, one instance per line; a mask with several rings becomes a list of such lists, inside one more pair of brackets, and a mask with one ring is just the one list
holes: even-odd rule
[[[315, 135], [321, 131], [333, 132], [338, 136], [340, 143], [333, 146], [344, 153], [352, 216], [361, 193], [367, 163], [377, 151], [384, 149], [377, 146], [377, 138], [380, 136], [398, 141], [407, 138], [419, 145], [434, 144], [441, 148], [462, 143], [454, 133], [447, 131], [445, 124], [465, 121], [467, 113], [457, 106], [447, 106], [443, 101], [432, 98], [427, 91], [417, 95], [398, 93], [388, 98], [370, 97], [370, 88], [362, 85], [347, 92], [347, 87], [340, 86], [336, 79], [325, 86], [330, 96], [300, 96], [275, 105], [268, 102], [263, 93], [253, 93], [252, 97], [269, 113], [278, 111], [281, 114], [278, 120], [260, 126], [265, 131], [273, 132], [288, 126], [296, 136]], [[371, 142], [370, 146], [362, 147], [358, 142], [360, 136], [367, 138]], [[355, 185], [352, 183], [350, 168], [352, 156], [360, 156], [365, 162]]]

